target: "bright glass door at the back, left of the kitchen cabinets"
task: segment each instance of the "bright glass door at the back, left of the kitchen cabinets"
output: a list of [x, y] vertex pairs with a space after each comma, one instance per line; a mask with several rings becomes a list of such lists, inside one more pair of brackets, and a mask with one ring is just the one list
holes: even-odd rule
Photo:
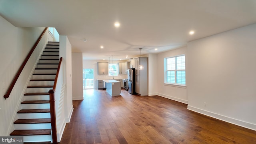
[[94, 69], [93, 68], [83, 69], [83, 88], [84, 90], [94, 88]]

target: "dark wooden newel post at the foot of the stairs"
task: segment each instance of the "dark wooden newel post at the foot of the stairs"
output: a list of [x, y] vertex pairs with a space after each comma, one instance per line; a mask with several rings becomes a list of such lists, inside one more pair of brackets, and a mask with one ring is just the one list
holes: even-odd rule
[[51, 113], [51, 124], [52, 124], [52, 143], [57, 144], [57, 129], [56, 129], [56, 113], [55, 113], [55, 98], [54, 90], [49, 91], [50, 94], [50, 113]]

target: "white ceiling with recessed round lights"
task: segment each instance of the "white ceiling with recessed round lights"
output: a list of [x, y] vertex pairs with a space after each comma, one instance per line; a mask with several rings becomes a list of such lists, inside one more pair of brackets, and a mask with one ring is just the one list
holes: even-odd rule
[[83, 59], [126, 60], [254, 24], [256, 0], [0, 0], [0, 15], [17, 27], [55, 27]]

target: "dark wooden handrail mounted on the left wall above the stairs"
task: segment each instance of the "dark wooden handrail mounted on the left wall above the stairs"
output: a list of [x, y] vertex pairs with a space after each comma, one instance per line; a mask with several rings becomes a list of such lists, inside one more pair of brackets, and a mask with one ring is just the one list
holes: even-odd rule
[[15, 85], [15, 83], [17, 82], [23, 68], [25, 67], [26, 63], [28, 62], [28, 59], [30, 58], [30, 56], [32, 55], [32, 53], [34, 52], [34, 50], [36, 49], [36, 46], [38, 45], [38, 43], [40, 42], [40, 40], [42, 39], [44, 33], [46, 32], [48, 28], [45, 28], [44, 31], [42, 32], [42, 34], [40, 35], [40, 37], [38, 38], [38, 40], [36, 41], [36, 43], [34, 44], [34, 46], [31, 48], [30, 52], [28, 53], [28, 55], [26, 56], [25, 60], [23, 61], [23, 63], [21, 64], [18, 72], [16, 73], [14, 79], [12, 80], [12, 83], [10, 84], [6, 94], [4, 95], [4, 98], [9, 98], [10, 93], [12, 92], [12, 89]]

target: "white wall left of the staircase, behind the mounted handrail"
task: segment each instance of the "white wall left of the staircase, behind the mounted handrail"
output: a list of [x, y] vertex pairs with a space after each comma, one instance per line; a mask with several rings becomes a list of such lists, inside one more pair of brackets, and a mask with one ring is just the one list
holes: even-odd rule
[[14, 130], [13, 122], [18, 119], [20, 101], [36, 66], [36, 60], [46, 44], [47, 34], [43, 36], [28, 60], [10, 97], [5, 100], [3, 96], [7, 88], [44, 28], [17, 28], [1, 16], [0, 26], [0, 136], [9, 136]]

